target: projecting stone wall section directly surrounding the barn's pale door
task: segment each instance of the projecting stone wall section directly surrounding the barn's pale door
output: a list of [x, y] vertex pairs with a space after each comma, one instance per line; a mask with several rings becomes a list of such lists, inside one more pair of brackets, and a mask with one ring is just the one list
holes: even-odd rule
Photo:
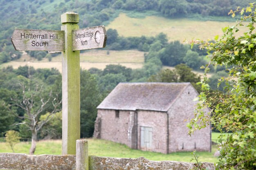
[[141, 148], [141, 127], [152, 128], [152, 147], [150, 151], [167, 153], [168, 122], [167, 113], [160, 111], [138, 110], [138, 149]]

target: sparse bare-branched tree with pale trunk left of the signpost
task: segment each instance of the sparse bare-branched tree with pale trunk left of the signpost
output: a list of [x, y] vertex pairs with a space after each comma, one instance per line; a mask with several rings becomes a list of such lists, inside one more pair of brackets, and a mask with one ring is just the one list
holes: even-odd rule
[[[61, 104], [61, 101], [58, 101], [58, 95], [56, 94], [53, 97], [52, 91], [49, 92], [47, 97], [43, 94], [43, 85], [39, 85], [38, 83], [31, 83], [31, 79], [28, 83], [24, 83], [22, 81], [18, 81], [16, 84], [17, 87], [20, 87], [22, 92], [20, 93], [20, 97], [11, 97], [11, 100], [14, 102], [12, 105], [9, 105], [9, 110], [11, 111], [11, 106], [18, 106], [25, 111], [24, 116], [18, 116], [18, 118], [24, 120], [22, 124], [28, 126], [31, 131], [31, 148], [29, 150], [29, 154], [33, 155], [36, 150], [36, 141], [37, 134], [42, 127], [49, 122], [54, 117], [54, 113], [58, 110], [58, 106]], [[52, 109], [49, 111], [49, 115], [44, 120], [39, 120], [40, 115], [45, 112], [45, 109], [49, 107], [49, 103], [52, 103]]]

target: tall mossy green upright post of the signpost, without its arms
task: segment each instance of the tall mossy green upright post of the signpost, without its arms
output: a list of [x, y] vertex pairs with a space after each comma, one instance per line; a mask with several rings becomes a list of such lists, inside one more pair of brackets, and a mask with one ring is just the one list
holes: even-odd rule
[[80, 139], [80, 51], [72, 51], [72, 30], [79, 29], [79, 15], [61, 15], [61, 30], [65, 31], [65, 51], [62, 52], [62, 154], [76, 154]]

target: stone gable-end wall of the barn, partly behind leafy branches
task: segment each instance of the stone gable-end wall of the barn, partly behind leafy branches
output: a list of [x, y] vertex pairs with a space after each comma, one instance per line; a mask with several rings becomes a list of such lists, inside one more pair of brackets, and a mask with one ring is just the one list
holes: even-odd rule
[[189, 128], [186, 127], [189, 118], [194, 118], [196, 102], [194, 98], [198, 93], [190, 85], [173, 102], [169, 109], [169, 153], [177, 151], [210, 151], [211, 129], [207, 126], [189, 136]]

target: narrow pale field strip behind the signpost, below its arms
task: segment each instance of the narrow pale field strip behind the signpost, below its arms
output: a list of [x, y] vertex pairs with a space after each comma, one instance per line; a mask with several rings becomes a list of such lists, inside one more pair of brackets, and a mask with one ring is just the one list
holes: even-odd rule
[[[109, 50], [109, 54], [107, 54], [107, 50], [88, 50], [80, 54], [80, 67], [82, 69], [88, 70], [94, 67], [103, 70], [108, 64], [120, 64], [132, 69], [141, 68], [144, 64], [144, 52], [137, 50]], [[12, 65], [15, 69], [25, 65], [33, 66], [35, 69], [56, 68], [61, 72], [61, 54], [53, 57], [51, 62], [46, 58], [42, 61], [37, 61], [24, 54], [16, 61], [0, 65], [0, 68], [8, 65]]]

